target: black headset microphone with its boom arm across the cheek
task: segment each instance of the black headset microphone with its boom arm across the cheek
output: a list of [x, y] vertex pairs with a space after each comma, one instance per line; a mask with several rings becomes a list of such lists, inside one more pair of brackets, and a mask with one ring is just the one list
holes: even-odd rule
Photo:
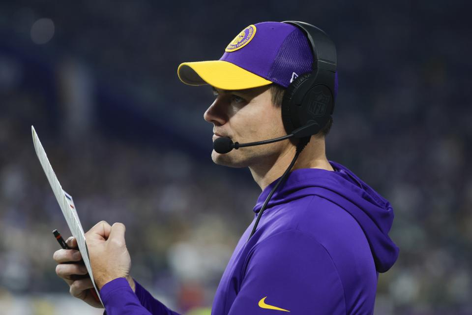
[[233, 149], [237, 150], [243, 147], [259, 146], [261, 144], [278, 142], [278, 141], [282, 141], [289, 138], [304, 138], [304, 137], [312, 135], [313, 130], [316, 129], [317, 127], [319, 128], [318, 123], [315, 121], [311, 121], [307, 125], [294, 130], [294, 132], [286, 136], [275, 138], [275, 139], [263, 140], [263, 141], [249, 142], [249, 143], [239, 143], [239, 142], [233, 143], [233, 140], [231, 140], [229, 137], [220, 137], [213, 142], [213, 149], [217, 153], [226, 154]]

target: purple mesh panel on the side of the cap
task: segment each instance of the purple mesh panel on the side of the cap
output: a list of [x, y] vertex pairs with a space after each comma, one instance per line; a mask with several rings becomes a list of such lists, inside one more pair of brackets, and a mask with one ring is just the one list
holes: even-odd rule
[[310, 43], [301, 30], [295, 27], [284, 40], [268, 73], [267, 80], [285, 88], [290, 84], [292, 75], [310, 72], [313, 54]]

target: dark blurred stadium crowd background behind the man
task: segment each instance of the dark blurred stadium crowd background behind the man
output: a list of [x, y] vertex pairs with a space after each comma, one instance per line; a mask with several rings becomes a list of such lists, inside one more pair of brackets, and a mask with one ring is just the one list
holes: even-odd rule
[[34, 125], [84, 229], [123, 222], [131, 274], [181, 314], [209, 314], [260, 194], [212, 163], [208, 87], [249, 24], [314, 24], [338, 50], [326, 155], [393, 205], [396, 264], [375, 314], [472, 314], [472, 23], [467, 1], [0, 3], [0, 309], [102, 314], [56, 276], [70, 231], [34, 153]]

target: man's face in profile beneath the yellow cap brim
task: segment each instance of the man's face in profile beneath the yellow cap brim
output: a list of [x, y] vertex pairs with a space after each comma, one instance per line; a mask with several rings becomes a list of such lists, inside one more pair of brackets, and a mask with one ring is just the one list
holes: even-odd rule
[[[227, 91], [213, 88], [216, 96], [204, 114], [213, 124], [213, 141], [220, 136], [233, 142], [246, 143], [277, 138], [286, 135], [281, 109], [272, 104], [269, 86]], [[213, 162], [231, 167], [248, 167], [274, 163], [287, 152], [290, 141], [280, 141], [261, 146], [233, 149], [227, 154], [213, 150]]]

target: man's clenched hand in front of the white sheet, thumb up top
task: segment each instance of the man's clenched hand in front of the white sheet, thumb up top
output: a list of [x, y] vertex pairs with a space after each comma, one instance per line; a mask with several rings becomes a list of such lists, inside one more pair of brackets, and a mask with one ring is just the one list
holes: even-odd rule
[[114, 279], [131, 278], [131, 258], [124, 240], [125, 230], [123, 223], [110, 226], [106, 221], [100, 221], [85, 233], [93, 278], [99, 290]]

